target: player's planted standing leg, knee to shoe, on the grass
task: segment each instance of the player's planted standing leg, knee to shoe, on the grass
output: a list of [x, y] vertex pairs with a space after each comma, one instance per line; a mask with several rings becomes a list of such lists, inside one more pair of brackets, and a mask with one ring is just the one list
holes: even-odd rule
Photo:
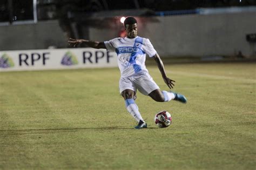
[[127, 111], [132, 115], [134, 119], [138, 121], [138, 125], [134, 128], [147, 128], [147, 124], [143, 120], [142, 115], [139, 112], [139, 108], [134, 101], [134, 96], [136, 96], [135, 92], [133, 90], [126, 89], [121, 94], [125, 99], [125, 106]]

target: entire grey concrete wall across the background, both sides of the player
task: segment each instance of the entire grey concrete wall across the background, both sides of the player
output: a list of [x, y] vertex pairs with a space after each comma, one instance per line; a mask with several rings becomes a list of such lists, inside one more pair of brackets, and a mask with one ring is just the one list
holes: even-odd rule
[[[256, 33], [256, 12], [137, 19], [138, 35], [149, 38], [161, 56], [234, 56], [238, 51], [252, 56], [256, 51], [255, 44], [250, 46], [245, 39], [247, 33]], [[118, 23], [109, 29], [84, 30], [89, 30], [91, 40], [109, 40], [118, 36], [122, 27]], [[2, 51], [68, 45], [58, 21], [0, 26], [0, 37]]]

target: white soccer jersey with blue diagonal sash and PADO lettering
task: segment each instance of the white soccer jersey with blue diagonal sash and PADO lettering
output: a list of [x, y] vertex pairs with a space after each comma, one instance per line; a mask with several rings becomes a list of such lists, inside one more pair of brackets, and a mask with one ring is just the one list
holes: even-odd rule
[[132, 76], [137, 72], [148, 72], [145, 66], [146, 54], [156, 55], [153, 45], [147, 38], [114, 38], [104, 42], [107, 51], [115, 51], [121, 77]]

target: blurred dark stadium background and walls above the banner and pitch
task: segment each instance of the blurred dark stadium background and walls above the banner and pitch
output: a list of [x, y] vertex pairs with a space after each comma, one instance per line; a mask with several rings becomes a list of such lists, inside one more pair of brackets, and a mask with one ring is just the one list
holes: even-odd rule
[[121, 17], [135, 16], [139, 35], [150, 38], [162, 57], [251, 58], [255, 5], [255, 0], [2, 0], [0, 50], [65, 48], [70, 37], [109, 40], [124, 36]]

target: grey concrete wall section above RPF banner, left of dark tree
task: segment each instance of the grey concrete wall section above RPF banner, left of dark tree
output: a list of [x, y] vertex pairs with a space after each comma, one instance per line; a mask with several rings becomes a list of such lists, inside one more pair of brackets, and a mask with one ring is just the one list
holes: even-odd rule
[[58, 21], [0, 26], [0, 51], [65, 47], [68, 43]]

